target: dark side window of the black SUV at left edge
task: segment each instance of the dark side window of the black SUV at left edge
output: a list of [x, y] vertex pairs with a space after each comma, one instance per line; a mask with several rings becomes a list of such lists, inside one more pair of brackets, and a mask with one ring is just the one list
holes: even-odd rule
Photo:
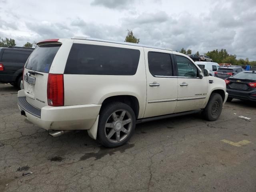
[[4, 50], [2, 62], [26, 63], [31, 51]]

